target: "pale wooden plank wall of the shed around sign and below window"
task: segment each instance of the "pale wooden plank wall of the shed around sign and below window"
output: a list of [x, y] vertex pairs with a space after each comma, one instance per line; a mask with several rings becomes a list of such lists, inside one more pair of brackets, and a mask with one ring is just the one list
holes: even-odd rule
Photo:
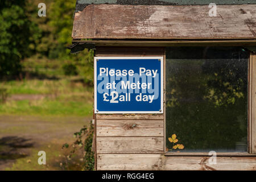
[[[164, 56], [164, 49], [96, 47], [96, 56]], [[209, 156], [165, 156], [163, 114], [96, 114], [96, 148], [97, 170], [256, 170], [255, 156], [221, 156], [216, 165]]]

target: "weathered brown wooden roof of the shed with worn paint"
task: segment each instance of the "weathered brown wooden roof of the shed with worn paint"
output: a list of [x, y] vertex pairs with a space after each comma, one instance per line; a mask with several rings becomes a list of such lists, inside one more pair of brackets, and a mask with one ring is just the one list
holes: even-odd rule
[[69, 48], [203, 46], [213, 45], [211, 40], [214, 45], [256, 46], [256, 0], [215, 0], [220, 5], [215, 17], [208, 15], [211, 2], [78, 0]]

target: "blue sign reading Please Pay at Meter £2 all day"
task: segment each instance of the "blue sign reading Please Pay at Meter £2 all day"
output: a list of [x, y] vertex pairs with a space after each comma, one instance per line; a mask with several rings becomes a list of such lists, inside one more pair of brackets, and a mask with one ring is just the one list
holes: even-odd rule
[[95, 113], [163, 113], [163, 57], [94, 57]]

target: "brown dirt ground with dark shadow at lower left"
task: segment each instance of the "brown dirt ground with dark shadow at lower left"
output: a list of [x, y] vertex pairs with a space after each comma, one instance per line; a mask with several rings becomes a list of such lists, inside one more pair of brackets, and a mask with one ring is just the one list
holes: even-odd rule
[[61, 146], [72, 143], [73, 133], [88, 126], [90, 120], [84, 117], [0, 115], [0, 170], [8, 167], [14, 170], [41, 169], [35, 166], [40, 150], [47, 151], [48, 159], [51, 159], [42, 169], [63, 169], [59, 158], [65, 152]]

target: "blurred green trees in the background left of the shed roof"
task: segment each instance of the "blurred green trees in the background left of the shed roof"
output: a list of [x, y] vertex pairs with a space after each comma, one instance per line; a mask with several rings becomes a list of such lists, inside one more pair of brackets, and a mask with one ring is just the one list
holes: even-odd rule
[[39, 0], [1, 1], [0, 79], [22, 78], [20, 62], [31, 58], [59, 60], [65, 75], [77, 75], [93, 84], [93, 52], [71, 55], [74, 0], [46, 0], [46, 17], [38, 16]]

